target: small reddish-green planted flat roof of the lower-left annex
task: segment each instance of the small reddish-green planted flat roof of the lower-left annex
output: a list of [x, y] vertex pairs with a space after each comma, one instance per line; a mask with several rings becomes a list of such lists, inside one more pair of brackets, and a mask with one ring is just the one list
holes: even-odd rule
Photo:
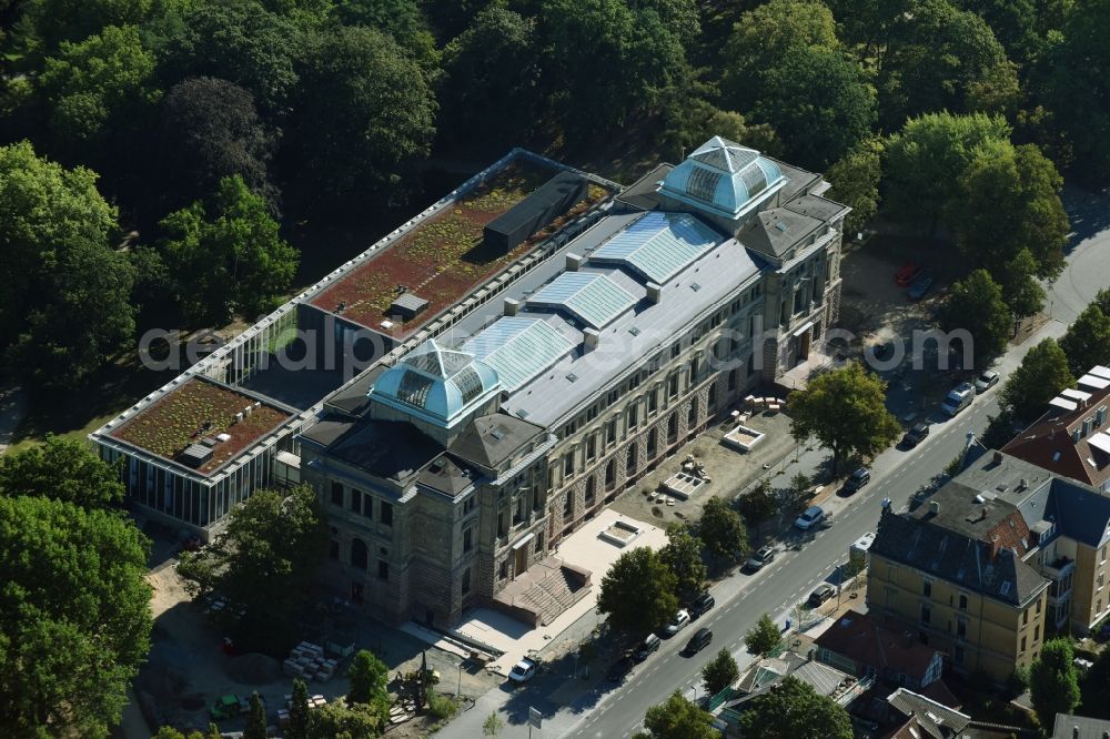
[[[250, 414], [246, 408], [250, 407]], [[242, 421], [235, 414], [243, 413]], [[209, 475], [270, 434], [293, 414], [203, 376], [190, 377], [109, 436], [150, 454], [179, 462], [184, 449], [205, 438], [231, 438], [212, 447], [212, 458], [195, 468]]]

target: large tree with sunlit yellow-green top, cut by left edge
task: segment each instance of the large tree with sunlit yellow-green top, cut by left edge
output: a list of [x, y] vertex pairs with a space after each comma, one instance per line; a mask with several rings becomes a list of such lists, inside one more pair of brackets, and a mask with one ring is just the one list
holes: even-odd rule
[[0, 351], [28, 386], [78, 387], [133, 338], [115, 219], [93, 172], [0, 146]]

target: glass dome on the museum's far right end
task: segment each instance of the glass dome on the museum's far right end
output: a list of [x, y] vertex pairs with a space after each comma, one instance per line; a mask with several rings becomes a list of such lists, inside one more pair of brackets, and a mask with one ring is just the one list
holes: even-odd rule
[[755, 149], [714, 136], [663, 180], [659, 192], [715, 215], [737, 219], [786, 184], [778, 164]]

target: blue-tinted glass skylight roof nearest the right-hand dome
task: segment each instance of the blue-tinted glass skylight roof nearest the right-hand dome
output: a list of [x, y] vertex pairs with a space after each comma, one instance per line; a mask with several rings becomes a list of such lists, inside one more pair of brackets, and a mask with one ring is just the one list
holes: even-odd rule
[[589, 259], [628, 265], [662, 285], [723, 241], [688, 213], [652, 211], [602, 244]]

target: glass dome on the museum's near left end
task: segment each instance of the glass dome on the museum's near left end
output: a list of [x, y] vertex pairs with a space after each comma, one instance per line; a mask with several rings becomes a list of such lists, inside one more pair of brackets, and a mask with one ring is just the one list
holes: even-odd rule
[[425, 421], [451, 425], [500, 389], [493, 367], [430, 338], [382, 374], [370, 397]]

